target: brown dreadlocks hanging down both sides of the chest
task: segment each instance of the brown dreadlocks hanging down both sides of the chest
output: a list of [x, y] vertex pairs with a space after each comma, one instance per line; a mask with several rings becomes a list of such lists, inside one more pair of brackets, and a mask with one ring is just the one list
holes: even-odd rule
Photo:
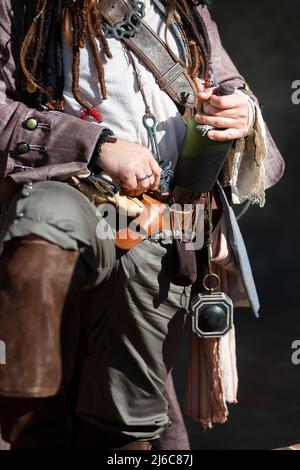
[[[180, 14], [187, 31], [191, 61], [189, 73], [194, 78], [206, 74], [210, 66], [210, 41], [201, 15], [194, 6], [199, 0], [165, 0], [167, 28]], [[34, 95], [35, 104], [62, 100], [64, 80], [62, 64], [62, 33], [68, 46], [72, 46], [72, 92], [84, 110], [92, 106], [80, 94], [80, 49], [91, 46], [93, 60], [100, 83], [102, 99], [106, 99], [104, 65], [99, 53], [97, 39], [104, 56], [112, 58], [103, 33], [103, 18], [99, 5], [101, 0], [26, 0], [28, 19], [26, 35], [21, 47], [20, 63], [25, 77], [26, 89]], [[34, 5], [33, 5], [34, 4]], [[33, 15], [32, 15], [33, 13]], [[32, 17], [34, 18], [32, 21]], [[63, 27], [62, 27], [63, 24]], [[49, 70], [54, 70], [49, 76]], [[54, 83], [55, 82], [55, 83]], [[35, 92], [36, 93], [33, 93]]]

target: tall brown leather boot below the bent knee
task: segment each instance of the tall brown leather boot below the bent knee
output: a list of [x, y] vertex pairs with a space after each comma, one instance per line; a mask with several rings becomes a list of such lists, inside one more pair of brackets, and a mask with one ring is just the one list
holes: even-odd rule
[[[21, 441], [22, 447], [27, 446], [26, 433], [28, 446], [34, 447], [32, 423], [39, 423], [35, 426], [39, 441], [47, 435], [43, 422], [45, 426], [49, 420], [53, 423], [54, 408], [62, 406], [74, 367], [85, 278], [86, 266], [79, 253], [39, 237], [8, 242], [0, 257], [0, 332], [6, 344], [0, 396], [15, 403], [10, 416], [4, 416], [0, 407], [0, 426], [4, 439], [15, 447]], [[48, 401], [51, 416], [44, 406]]]

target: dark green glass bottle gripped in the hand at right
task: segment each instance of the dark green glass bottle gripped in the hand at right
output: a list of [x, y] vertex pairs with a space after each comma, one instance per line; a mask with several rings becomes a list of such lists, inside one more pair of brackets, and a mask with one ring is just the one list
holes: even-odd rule
[[[231, 95], [234, 88], [220, 85], [218, 96]], [[233, 141], [216, 142], [198, 130], [194, 119], [189, 123], [174, 174], [175, 186], [187, 191], [207, 193], [212, 191], [225, 163]], [[224, 129], [222, 129], [224, 130]]]

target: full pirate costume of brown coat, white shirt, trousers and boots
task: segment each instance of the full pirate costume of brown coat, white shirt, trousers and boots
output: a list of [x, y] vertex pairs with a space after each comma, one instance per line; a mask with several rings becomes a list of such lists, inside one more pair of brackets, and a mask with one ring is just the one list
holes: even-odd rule
[[[129, 251], [116, 249], [113, 239], [99, 236], [109, 230], [101, 210], [66, 181], [88, 178], [101, 145], [114, 135], [156, 152], [169, 189], [199, 87], [214, 81], [251, 93], [221, 45], [206, 2], [192, 2], [203, 35], [201, 72], [191, 77], [193, 44], [180, 8], [165, 36], [165, 2], [102, 1], [102, 43], [84, 40], [79, 47], [73, 36], [75, 82], [68, 37], [58, 35], [55, 21], [47, 24], [40, 70], [49, 101], [19, 67], [35, 14], [30, 3], [5, 0], [0, 7], [0, 334], [7, 344], [0, 424], [15, 448], [69, 446], [69, 390], [79, 382], [81, 446], [147, 449], [171, 424], [165, 388], [189, 315], [191, 286], [170, 281], [164, 260], [172, 234], [149, 237]], [[66, 2], [55, 3], [52, 19]], [[114, 16], [119, 8], [121, 21]], [[95, 47], [105, 83], [91, 60]], [[223, 187], [231, 187], [234, 202], [263, 205], [265, 189], [280, 179], [284, 165], [255, 98], [250, 100], [252, 137], [228, 155], [212, 256], [223, 291], [235, 306], [251, 306], [257, 315], [251, 269]], [[154, 134], [143, 123], [147, 112], [157, 123]], [[187, 413], [204, 426], [225, 421], [226, 401], [236, 401], [233, 329], [220, 341], [193, 336], [190, 360], [199, 374], [190, 369]]]

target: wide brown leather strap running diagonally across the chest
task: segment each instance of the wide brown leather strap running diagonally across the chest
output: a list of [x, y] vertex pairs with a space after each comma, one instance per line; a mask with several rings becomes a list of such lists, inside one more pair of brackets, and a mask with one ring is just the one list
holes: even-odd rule
[[[128, 0], [102, 0], [99, 4], [99, 10], [110, 26], [123, 21], [131, 9]], [[149, 68], [159, 87], [176, 103], [187, 108], [196, 107], [196, 87], [186, 68], [147, 23], [142, 21], [140, 31], [134, 37], [123, 37], [122, 41]]]

